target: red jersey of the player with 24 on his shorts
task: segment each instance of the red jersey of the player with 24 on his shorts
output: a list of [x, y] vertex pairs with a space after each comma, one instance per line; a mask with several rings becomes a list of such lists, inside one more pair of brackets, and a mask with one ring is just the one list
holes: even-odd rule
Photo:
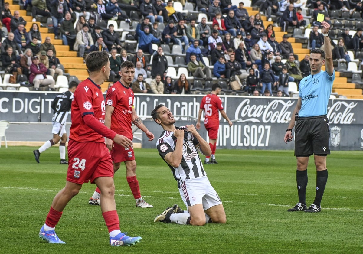
[[83, 121], [84, 115], [94, 115], [102, 124], [105, 124], [105, 99], [101, 86], [95, 84], [91, 79], [79, 83], [72, 101], [72, 114], [69, 138], [77, 142], [102, 142], [105, 139], [101, 134], [88, 127]]

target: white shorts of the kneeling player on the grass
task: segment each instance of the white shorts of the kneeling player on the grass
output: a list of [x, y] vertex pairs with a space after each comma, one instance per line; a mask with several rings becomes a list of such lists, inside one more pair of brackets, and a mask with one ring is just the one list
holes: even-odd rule
[[212, 206], [222, 204], [207, 176], [185, 180], [179, 188], [179, 193], [187, 207], [202, 204], [203, 209], [207, 210]]

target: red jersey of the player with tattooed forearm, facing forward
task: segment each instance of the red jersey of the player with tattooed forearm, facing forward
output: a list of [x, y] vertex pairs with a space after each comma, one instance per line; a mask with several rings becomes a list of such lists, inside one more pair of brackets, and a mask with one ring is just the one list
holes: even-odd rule
[[121, 81], [113, 84], [106, 94], [106, 103], [114, 107], [111, 115], [111, 130], [132, 140], [132, 108], [134, 107], [134, 93], [130, 87]]

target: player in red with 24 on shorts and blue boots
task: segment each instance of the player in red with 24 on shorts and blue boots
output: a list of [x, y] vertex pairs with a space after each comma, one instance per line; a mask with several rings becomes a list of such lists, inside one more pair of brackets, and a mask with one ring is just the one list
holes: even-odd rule
[[110, 75], [108, 53], [91, 52], [86, 57], [89, 78], [81, 82], [72, 102], [72, 126], [68, 143], [68, 172], [65, 187], [54, 197], [39, 237], [49, 243], [65, 243], [54, 231], [68, 202], [78, 194], [83, 183], [95, 183], [102, 191], [102, 216], [109, 230], [110, 245], [134, 245], [141, 237], [129, 237], [121, 233], [115, 204], [115, 185], [110, 153], [105, 145], [107, 137], [115, 143], [131, 147], [132, 142], [125, 136], [107, 128], [105, 121], [105, 101], [101, 85]]

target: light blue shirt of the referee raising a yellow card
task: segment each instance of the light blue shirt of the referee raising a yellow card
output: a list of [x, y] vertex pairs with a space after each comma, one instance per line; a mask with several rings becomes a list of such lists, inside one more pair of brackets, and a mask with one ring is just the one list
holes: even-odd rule
[[299, 97], [301, 97], [300, 117], [326, 115], [328, 101], [333, 88], [335, 71], [329, 76], [326, 71], [309, 75], [300, 81]]

